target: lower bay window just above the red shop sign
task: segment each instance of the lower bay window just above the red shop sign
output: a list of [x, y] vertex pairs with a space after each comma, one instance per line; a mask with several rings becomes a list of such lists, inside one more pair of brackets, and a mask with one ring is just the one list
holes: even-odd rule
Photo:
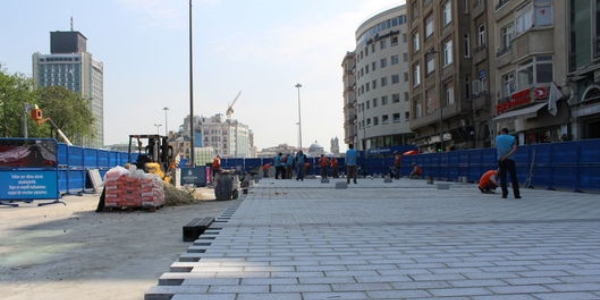
[[551, 56], [536, 56], [517, 66], [517, 88], [525, 89], [553, 80]]

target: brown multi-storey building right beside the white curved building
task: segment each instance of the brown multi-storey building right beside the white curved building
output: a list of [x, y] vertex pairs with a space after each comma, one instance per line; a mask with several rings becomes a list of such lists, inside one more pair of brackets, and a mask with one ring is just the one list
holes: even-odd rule
[[473, 148], [469, 1], [410, 1], [411, 128], [422, 151]]

